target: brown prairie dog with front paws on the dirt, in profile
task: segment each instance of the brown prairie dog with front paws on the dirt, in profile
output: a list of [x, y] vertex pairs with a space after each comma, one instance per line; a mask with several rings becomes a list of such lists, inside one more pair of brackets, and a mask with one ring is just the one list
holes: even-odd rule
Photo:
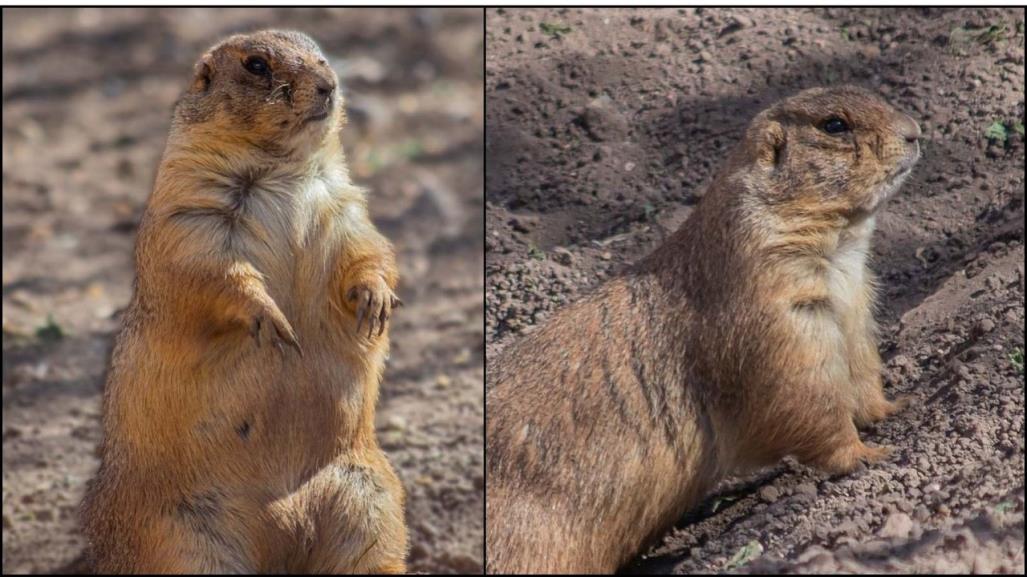
[[488, 572], [611, 573], [727, 474], [887, 455], [865, 263], [919, 136], [857, 87], [776, 104], [662, 246], [490, 363]]

